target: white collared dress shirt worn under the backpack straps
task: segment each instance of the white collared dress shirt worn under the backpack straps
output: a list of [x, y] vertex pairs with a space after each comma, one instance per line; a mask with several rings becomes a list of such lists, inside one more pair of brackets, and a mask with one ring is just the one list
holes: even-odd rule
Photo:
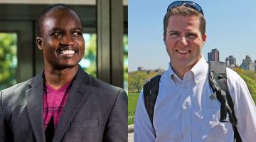
[[[256, 141], [256, 108], [247, 85], [227, 68], [228, 90], [234, 102], [238, 131], [243, 142]], [[220, 102], [208, 81], [208, 63], [201, 60], [179, 79], [169, 65], [161, 76], [154, 107], [154, 129], [144, 106], [143, 90], [135, 115], [134, 142], [233, 142], [230, 122], [220, 122]], [[228, 118], [228, 117], [227, 117]]]

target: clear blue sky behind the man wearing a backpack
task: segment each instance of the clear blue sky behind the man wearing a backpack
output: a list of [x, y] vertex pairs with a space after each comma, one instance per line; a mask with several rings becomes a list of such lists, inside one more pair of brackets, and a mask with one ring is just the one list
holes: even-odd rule
[[[168, 68], [169, 55], [163, 41], [163, 18], [173, 1], [129, 0], [129, 71], [138, 66], [146, 69]], [[206, 18], [207, 40], [203, 57], [213, 48], [220, 60], [233, 55], [237, 64], [245, 55], [256, 60], [256, 1], [195, 1]]]

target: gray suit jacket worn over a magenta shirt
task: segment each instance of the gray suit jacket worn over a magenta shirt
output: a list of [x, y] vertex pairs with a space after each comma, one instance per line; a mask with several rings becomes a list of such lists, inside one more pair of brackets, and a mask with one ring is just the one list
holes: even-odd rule
[[[0, 141], [46, 141], [43, 73], [0, 92]], [[127, 94], [87, 75], [73, 80], [54, 142], [127, 141]]]

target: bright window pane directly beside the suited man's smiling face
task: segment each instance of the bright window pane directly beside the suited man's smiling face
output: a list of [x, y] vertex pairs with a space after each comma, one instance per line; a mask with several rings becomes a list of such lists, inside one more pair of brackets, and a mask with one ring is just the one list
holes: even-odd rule
[[88, 74], [93, 77], [97, 76], [97, 68], [96, 68], [96, 38], [97, 35], [95, 33], [83, 33], [82, 34], [85, 39], [85, 55], [82, 60], [79, 62], [81, 67]]

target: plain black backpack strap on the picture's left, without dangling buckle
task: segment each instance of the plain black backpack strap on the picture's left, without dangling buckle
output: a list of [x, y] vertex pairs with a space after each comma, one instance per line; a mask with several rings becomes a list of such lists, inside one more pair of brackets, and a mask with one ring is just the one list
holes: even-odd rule
[[[153, 129], [154, 129], [154, 125], [153, 125], [154, 105], [156, 104], [156, 98], [159, 92], [160, 78], [161, 78], [161, 75], [156, 75], [155, 77], [148, 80], [143, 87], [144, 104], [146, 107], [146, 112], [149, 115], [149, 119], [151, 121]], [[154, 135], [156, 136], [155, 132], [154, 132]]]

